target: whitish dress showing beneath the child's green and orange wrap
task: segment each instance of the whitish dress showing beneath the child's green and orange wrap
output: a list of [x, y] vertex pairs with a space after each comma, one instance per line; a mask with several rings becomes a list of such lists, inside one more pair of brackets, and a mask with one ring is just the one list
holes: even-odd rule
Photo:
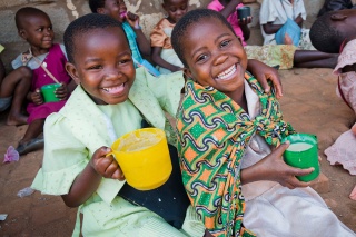
[[[248, 112], [259, 113], [259, 99], [245, 83]], [[269, 146], [255, 136], [243, 158], [243, 169], [270, 152]], [[261, 237], [348, 237], [356, 236], [328, 209], [320, 196], [310, 187], [288, 189], [275, 181], [243, 185], [246, 198], [244, 225]]]

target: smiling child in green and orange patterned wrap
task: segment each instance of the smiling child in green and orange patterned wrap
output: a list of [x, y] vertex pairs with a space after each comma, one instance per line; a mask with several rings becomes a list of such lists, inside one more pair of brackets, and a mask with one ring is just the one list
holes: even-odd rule
[[355, 236], [295, 177], [314, 168], [283, 161], [289, 144], [280, 138], [295, 131], [274, 93], [246, 71], [246, 53], [226, 19], [208, 9], [188, 12], [172, 31], [172, 47], [190, 78], [177, 115], [182, 181], [210, 234]]

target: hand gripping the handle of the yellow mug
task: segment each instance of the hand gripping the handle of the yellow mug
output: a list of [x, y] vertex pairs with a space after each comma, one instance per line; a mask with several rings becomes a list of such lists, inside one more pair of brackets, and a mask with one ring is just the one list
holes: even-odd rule
[[92, 155], [91, 167], [102, 177], [125, 180], [125, 176], [112, 156], [107, 156], [111, 151], [108, 147], [100, 147]]

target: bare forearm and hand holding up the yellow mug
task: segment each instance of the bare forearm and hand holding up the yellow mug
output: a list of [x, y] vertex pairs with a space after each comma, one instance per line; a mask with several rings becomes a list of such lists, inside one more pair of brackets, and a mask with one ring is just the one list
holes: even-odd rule
[[101, 178], [123, 180], [123, 174], [112, 156], [106, 157], [110, 148], [101, 147], [92, 155], [92, 158], [75, 179], [69, 192], [62, 195], [68, 207], [78, 207], [98, 189]]

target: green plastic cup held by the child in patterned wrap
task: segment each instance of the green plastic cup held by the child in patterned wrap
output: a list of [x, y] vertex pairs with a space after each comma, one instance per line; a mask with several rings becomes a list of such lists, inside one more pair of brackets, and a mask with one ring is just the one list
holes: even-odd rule
[[314, 167], [314, 171], [306, 176], [297, 176], [300, 181], [312, 181], [320, 174], [318, 159], [318, 141], [315, 135], [295, 134], [281, 141], [290, 141], [283, 157], [286, 164], [300, 169]]

